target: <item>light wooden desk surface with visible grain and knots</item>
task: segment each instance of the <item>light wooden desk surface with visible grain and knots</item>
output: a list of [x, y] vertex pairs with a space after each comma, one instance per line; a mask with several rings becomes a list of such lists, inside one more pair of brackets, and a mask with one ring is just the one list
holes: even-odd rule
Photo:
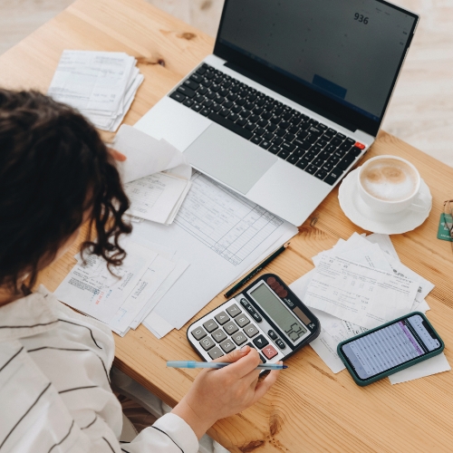
[[[63, 49], [123, 51], [135, 55], [145, 82], [125, 122], [139, 120], [169, 89], [211, 53], [214, 40], [141, 0], [79, 0], [0, 57], [0, 85], [45, 92]], [[434, 205], [415, 231], [392, 236], [401, 261], [436, 287], [429, 294], [429, 319], [447, 344], [453, 342], [453, 253], [436, 238], [442, 202], [453, 196], [453, 169], [381, 132], [370, 156], [410, 159], [428, 183]], [[344, 217], [338, 191], [300, 227], [291, 247], [267, 270], [289, 284], [312, 269], [311, 257], [361, 229]], [[74, 264], [72, 250], [43, 272], [54, 290]], [[200, 313], [224, 302], [217, 296]], [[197, 371], [167, 370], [165, 362], [197, 359], [181, 329], [156, 340], [144, 327], [116, 338], [115, 364], [169, 405], [188, 390]], [[453, 373], [391, 386], [388, 380], [356, 386], [347, 371], [333, 374], [305, 348], [263, 400], [236, 417], [223, 419], [209, 434], [233, 452], [440, 452], [451, 451]]]

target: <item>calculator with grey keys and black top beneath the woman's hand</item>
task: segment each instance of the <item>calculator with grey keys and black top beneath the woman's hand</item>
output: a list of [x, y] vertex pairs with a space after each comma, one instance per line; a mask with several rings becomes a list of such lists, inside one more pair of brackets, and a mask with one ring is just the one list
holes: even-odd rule
[[312, 342], [321, 324], [280, 277], [266, 274], [188, 326], [188, 342], [205, 361], [248, 345], [263, 363], [284, 361]]

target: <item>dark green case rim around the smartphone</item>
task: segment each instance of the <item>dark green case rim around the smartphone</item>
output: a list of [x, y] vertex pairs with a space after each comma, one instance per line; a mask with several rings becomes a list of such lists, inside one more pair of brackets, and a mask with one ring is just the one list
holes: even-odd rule
[[[342, 353], [342, 345], [346, 344], [348, 342], [352, 342], [352, 340], [356, 340], [358, 338], [361, 338], [362, 336], [368, 335], [369, 333], [372, 333], [372, 332], [375, 332], [375, 331], [379, 331], [379, 330], [383, 329], [384, 327], [387, 327], [390, 324], [398, 323], [400, 320], [405, 319], [405, 318], [409, 318], [410, 316], [412, 316], [414, 314], [419, 314], [426, 321], [426, 323], [428, 323], [428, 325], [432, 329], [432, 331], [434, 333], [436, 333], [436, 335], [438, 336], [439, 342], [440, 342], [440, 348], [438, 350], [436, 350], [436, 351], [429, 352], [427, 355], [423, 355], [422, 357], [419, 357], [419, 359], [415, 359], [414, 361], [403, 363], [400, 366], [398, 366], [396, 368], [392, 368], [389, 371], [381, 372], [380, 374], [377, 374], [376, 376], [374, 376], [371, 379], [367, 379], [367, 380], [364, 381], [364, 380], [361, 380], [358, 376], [356, 376], [355, 372], [352, 370], [351, 365], [349, 364], [349, 362], [347, 361], [347, 359], [344, 357], [344, 355]], [[380, 381], [382, 378], [386, 378], [387, 376], [390, 376], [390, 374], [394, 374], [395, 372], [398, 372], [398, 371], [404, 370], [406, 368], [409, 368], [410, 366], [415, 365], [416, 363], [419, 363], [420, 361], [426, 361], [429, 358], [434, 357], [435, 355], [438, 355], [440, 352], [442, 352], [444, 350], [444, 348], [445, 348], [444, 342], [439, 337], [439, 333], [436, 332], [436, 329], [434, 329], [432, 324], [429, 323], [428, 318], [423, 313], [412, 312], [412, 313], [409, 313], [409, 314], [405, 314], [404, 316], [400, 316], [400, 318], [394, 319], [393, 321], [390, 321], [390, 323], [382, 324], [379, 327], [375, 327], [374, 329], [370, 329], [369, 331], [367, 331], [365, 333], [360, 333], [359, 335], [356, 335], [356, 336], [354, 336], [352, 338], [349, 338], [348, 340], [345, 340], [344, 342], [339, 343], [338, 346], [337, 346], [337, 353], [338, 353], [338, 356], [340, 357], [340, 359], [342, 359], [342, 362], [344, 363], [344, 365], [346, 366], [348, 371], [350, 372], [350, 374], [352, 376], [352, 379], [355, 381], [355, 383], [357, 385], [360, 385], [361, 387], [364, 387], [365, 385], [370, 385], [373, 382]]]

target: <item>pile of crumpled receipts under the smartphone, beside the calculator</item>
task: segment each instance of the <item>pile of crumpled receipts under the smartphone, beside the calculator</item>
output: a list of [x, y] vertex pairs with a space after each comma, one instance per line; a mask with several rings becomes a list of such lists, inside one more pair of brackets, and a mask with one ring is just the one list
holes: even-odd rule
[[[345, 367], [336, 353], [339, 342], [382, 323], [419, 311], [434, 285], [400, 263], [390, 236], [340, 239], [331, 250], [313, 257], [315, 268], [291, 284], [321, 322], [313, 350], [333, 372]], [[390, 376], [391, 383], [450, 370], [444, 354]]]

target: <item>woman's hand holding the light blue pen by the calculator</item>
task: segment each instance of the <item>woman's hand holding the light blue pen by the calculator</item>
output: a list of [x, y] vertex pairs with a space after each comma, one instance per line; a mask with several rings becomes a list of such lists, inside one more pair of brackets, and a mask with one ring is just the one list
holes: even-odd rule
[[261, 363], [250, 346], [216, 359], [234, 362], [220, 370], [205, 369], [194, 381], [188, 394], [172, 412], [188, 422], [200, 439], [217, 419], [225, 419], [259, 400], [274, 384], [279, 371], [271, 371], [258, 383]]

